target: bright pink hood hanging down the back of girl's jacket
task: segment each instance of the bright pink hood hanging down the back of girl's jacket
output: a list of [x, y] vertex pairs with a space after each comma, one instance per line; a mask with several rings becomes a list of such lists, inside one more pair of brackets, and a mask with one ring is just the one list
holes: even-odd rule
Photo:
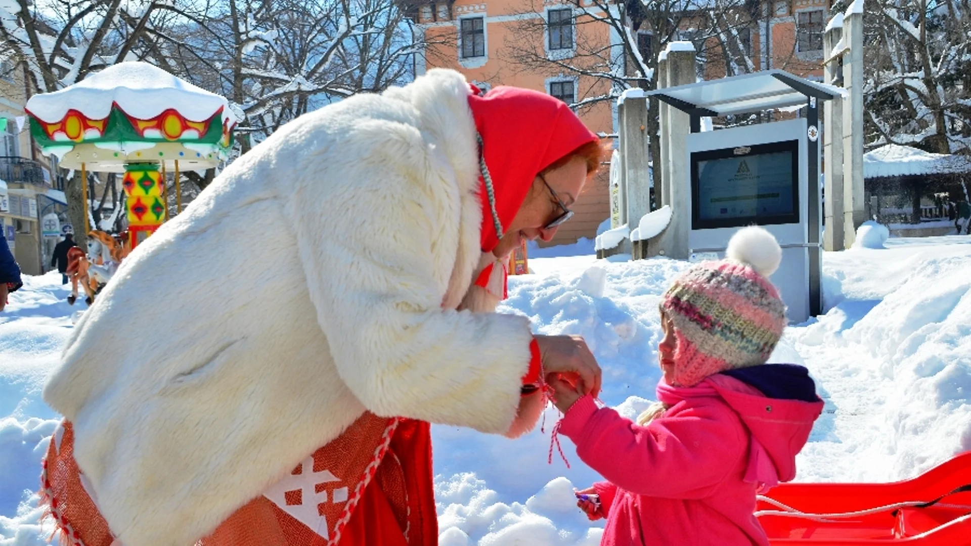
[[711, 385], [768, 452], [779, 481], [792, 480], [795, 456], [806, 445], [813, 423], [822, 413], [822, 400], [817, 397], [817, 401], [807, 402], [740, 392], [726, 381], [713, 381]]

